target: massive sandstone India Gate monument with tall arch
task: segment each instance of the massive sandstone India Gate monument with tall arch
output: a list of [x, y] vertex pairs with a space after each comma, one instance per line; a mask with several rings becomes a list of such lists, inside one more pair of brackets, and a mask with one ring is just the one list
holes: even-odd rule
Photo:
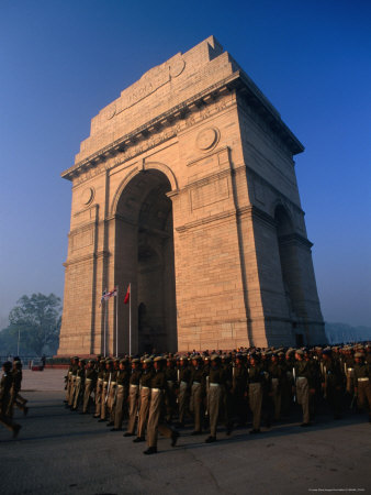
[[128, 353], [130, 312], [132, 353], [325, 342], [303, 151], [214, 36], [124, 89], [61, 174], [72, 206], [58, 355], [103, 342]]

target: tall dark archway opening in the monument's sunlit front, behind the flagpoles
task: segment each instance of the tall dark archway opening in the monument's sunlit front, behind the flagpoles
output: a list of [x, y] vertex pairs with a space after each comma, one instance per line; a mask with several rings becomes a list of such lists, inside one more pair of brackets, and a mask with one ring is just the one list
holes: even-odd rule
[[[115, 280], [132, 284], [132, 351], [177, 350], [172, 204], [168, 178], [137, 174], [116, 209]], [[127, 352], [127, 310], [119, 304], [119, 348]]]

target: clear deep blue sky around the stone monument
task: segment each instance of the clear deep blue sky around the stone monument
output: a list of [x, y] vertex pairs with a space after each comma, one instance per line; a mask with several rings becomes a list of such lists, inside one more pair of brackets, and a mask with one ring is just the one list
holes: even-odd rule
[[296, 174], [324, 317], [371, 326], [371, 3], [0, 0], [0, 322], [63, 296], [74, 164], [90, 119], [211, 34], [306, 150]]

